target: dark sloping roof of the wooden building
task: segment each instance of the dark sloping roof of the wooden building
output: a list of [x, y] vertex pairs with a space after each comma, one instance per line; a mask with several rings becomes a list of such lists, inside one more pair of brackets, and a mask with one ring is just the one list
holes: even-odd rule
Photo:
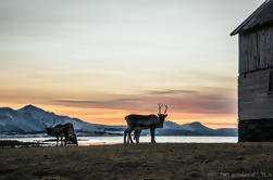
[[245, 22], [243, 22], [232, 34], [241, 34], [246, 30], [273, 24], [273, 0], [266, 0]]

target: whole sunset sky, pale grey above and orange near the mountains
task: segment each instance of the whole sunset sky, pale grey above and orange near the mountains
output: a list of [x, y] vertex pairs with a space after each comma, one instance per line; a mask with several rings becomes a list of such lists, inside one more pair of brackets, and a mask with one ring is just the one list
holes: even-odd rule
[[238, 37], [263, 0], [0, 0], [0, 106], [237, 126]]

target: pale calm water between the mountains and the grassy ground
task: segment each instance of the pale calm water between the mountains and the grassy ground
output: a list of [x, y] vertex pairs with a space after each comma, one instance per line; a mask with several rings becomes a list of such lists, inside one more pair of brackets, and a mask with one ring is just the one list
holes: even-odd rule
[[[42, 142], [45, 140], [52, 140], [52, 138], [8, 139], [24, 142]], [[156, 137], [156, 141], [158, 143], [236, 143], [238, 141], [238, 137]], [[140, 137], [140, 142], [150, 142], [150, 137]], [[78, 143], [79, 145], [123, 143], [123, 137], [78, 137]]]

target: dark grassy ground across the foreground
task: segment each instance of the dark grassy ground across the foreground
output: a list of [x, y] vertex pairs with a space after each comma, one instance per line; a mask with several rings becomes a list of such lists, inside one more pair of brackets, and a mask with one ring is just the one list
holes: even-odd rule
[[0, 179], [273, 179], [273, 143], [0, 149]]

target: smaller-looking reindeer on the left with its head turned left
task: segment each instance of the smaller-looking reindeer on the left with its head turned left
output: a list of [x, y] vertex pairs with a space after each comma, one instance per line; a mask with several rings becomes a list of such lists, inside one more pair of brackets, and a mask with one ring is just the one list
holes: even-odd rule
[[[44, 119], [42, 119], [44, 123]], [[47, 127], [44, 123], [45, 128], [47, 130], [48, 136], [55, 137], [57, 138], [57, 146], [59, 144], [59, 139], [61, 138], [61, 144], [63, 145], [63, 137], [64, 137], [64, 146], [66, 146], [69, 140], [72, 141], [74, 144], [78, 145], [77, 143], [77, 136], [74, 131], [73, 124], [67, 123], [64, 125], [54, 125], [54, 121], [51, 127]]]

